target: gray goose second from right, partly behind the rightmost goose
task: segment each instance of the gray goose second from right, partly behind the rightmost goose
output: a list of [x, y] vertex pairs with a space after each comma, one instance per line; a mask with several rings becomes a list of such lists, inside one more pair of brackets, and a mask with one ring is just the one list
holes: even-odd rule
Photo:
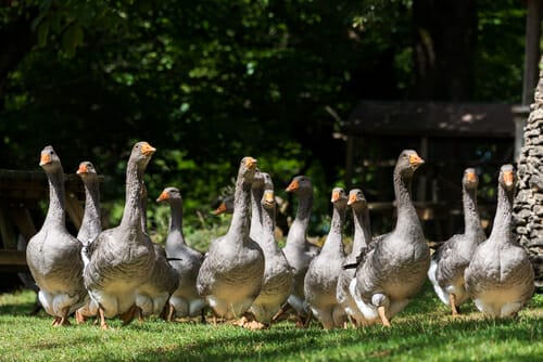
[[462, 179], [464, 234], [456, 234], [441, 245], [432, 255], [428, 270], [428, 277], [435, 294], [443, 303], [451, 306], [453, 315], [458, 314], [457, 307], [469, 298], [465, 288], [464, 271], [476, 247], [487, 238], [477, 210], [478, 184], [476, 170], [467, 168]]

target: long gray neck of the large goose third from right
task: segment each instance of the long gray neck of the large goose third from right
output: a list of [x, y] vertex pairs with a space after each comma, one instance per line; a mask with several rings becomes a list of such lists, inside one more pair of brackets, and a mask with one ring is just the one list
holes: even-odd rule
[[415, 206], [413, 206], [411, 186], [412, 178], [402, 177], [399, 170], [394, 170], [394, 193], [397, 205], [397, 220], [394, 232], [401, 235], [419, 236], [422, 235], [422, 228]]

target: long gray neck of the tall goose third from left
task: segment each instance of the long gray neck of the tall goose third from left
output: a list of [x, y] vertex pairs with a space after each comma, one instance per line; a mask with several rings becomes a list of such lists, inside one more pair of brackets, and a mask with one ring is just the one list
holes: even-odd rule
[[138, 164], [128, 160], [126, 168], [126, 202], [121, 219], [122, 228], [137, 228], [141, 232], [141, 192], [143, 188], [143, 171]]

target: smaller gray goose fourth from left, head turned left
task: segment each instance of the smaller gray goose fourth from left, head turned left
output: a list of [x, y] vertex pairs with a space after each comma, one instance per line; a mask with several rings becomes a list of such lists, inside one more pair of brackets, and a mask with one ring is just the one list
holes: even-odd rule
[[182, 197], [179, 189], [166, 188], [156, 198], [157, 203], [169, 204], [169, 231], [166, 237], [166, 256], [179, 274], [179, 285], [169, 297], [167, 320], [175, 316], [197, 316], [205, 307], [205, 299], [197, 290], [197, 277], [203, 255], [185, 242], [182, 233]]

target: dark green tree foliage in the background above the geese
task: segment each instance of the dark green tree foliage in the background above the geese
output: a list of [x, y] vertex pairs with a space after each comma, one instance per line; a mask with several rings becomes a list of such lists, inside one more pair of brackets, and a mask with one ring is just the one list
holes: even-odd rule
[[[402, 99], [413, 87], [412, 5], [11, 1], [0, 28], [26, 22], [35, 47], [0, 79], [1, 167], [38, 169], [46, 144], [67, 172], [91, 160], [108, 177], [102, 195], [114, 224], [129, 150], [147, 140], [157, 148], [150, 199], [180, 188], [186, 224], [198, 228], [251, 155], [281, 197], [293, 176], [314, 179], [311, 228], [321, 234], [328, 194], [344, 182], [344, 142], [332, 138], [341, 119], [362, 98]], [[513, 0], [479, 2], [477, 100], [518, 100], [525, 12]]]

